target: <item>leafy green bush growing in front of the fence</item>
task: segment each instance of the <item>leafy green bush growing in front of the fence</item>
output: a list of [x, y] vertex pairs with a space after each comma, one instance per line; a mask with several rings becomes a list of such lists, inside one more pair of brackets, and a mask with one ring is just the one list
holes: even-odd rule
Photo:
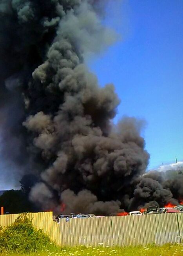
[[0, 252], [29, 253], [44, 249], [50, 244], [42, 230], [36, 230], [26, 214], [21, 214], [13, 224], [0, 228]]

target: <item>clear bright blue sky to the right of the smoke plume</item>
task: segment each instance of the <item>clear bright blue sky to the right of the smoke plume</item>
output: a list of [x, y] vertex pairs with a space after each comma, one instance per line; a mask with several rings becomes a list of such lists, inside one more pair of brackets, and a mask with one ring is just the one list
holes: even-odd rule
[[[113, 3], [115, 1], [112, 1]], [[123, 115], [144, 118], [149, 169], [183, 159], [183, 0], [124, 0], [107, 20], [122, 40], [89, 63]], [[111, 18], [109, 19], [109, 14]]]

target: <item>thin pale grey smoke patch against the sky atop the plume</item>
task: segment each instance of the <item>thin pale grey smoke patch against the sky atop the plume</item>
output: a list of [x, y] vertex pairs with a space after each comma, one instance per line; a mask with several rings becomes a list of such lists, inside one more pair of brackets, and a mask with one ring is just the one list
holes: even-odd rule
[[86, 1], [75, 12], [67, 12], [60, 22], [57, 34], [59, 38], [68, 38], [84, 55], [89, 52], [100, 53], [117, 39], [114, 31], [101, 25], [97, 14]]

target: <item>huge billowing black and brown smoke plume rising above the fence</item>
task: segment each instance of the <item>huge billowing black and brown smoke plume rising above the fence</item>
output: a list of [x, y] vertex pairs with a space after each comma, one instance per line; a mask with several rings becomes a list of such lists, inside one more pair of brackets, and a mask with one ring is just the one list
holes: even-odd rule
[[145, 174], [143, 122], [114, 127], [114, 86], [101, 88], [85, 65], [117, 38], [100, 20], [105, 3], [0, 1], [4, 155], [40, 180], [30, 200], [43, 210], [110, 215], [183, 196], [178, 181]]

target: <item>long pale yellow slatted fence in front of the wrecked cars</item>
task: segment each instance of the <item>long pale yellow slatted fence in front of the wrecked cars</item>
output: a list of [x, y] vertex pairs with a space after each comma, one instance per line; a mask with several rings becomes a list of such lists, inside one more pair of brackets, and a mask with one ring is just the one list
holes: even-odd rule
[[[0, 225], [14, 222], [19, 214], [0, 215]], [[42, 229], [61, 247], [162, 245], [183, 241], [183, 214], [152, 214], [102, 218], [65, 219], [60, 225], [52, 212], [27, 214], [37, 229]]]

